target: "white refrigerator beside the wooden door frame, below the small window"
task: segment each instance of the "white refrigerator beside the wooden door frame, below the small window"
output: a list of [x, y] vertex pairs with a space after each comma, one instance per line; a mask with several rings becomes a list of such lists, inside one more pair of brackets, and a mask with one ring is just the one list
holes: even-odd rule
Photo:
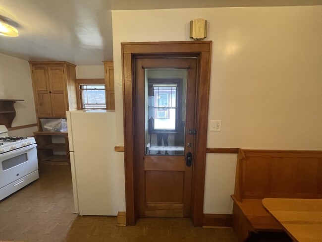
[[67, 111], [67, 127], [75, 212], [117, 215], [115, 113]]

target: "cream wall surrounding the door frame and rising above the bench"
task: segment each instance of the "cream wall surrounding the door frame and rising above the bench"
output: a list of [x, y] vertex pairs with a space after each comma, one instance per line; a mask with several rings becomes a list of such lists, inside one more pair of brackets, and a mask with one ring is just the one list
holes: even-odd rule
[[[208, 20], [209, 121], [222, 121], [221, 132], [208, 132], [208, 147], [321, 150], [322, 6], [113, 11], [117, 145], [123, 145], [120, 43], [188, 41], [194, 18]], [[235, 164], [236, 155], [207, 155], [205, 213], [231, 213]]]

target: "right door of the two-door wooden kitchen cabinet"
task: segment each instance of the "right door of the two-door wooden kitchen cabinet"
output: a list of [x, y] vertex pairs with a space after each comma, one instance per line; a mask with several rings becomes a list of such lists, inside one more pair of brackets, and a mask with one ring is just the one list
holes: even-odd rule
[[51, 86], [53, 117], [66, 117], [65, 78], [62, 66], [48, 67]]

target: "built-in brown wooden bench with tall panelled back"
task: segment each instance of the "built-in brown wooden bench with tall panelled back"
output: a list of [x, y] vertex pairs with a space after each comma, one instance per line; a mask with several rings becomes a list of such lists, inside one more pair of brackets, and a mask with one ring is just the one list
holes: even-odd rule
[[231, 197], [232, 228], [240, 242], [260, 231], [282, 232], [262, 199], [322, 198], [322, 151], [239, 149]]

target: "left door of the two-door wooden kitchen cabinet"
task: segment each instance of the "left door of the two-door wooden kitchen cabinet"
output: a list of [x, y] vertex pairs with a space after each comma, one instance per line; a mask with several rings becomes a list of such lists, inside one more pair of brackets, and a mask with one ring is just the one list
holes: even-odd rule
[[53, 110], [46, 67], [33, 66], [32, 70], [38, 117], [52, 117]]

